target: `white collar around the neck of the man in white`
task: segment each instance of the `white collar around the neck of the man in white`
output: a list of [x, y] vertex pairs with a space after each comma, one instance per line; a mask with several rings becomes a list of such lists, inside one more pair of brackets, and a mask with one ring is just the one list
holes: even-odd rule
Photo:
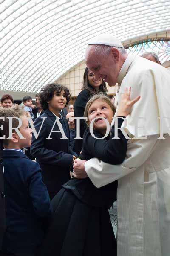
[[129, 54], [125, 60], [125, 62], [123, 63], [123, 66], [119, 72], [119, 76], [117, 77], [117, 83], [120, 86], [122, 83], [122, 80], [124, 79], [124, 77], [127, 74], [127, 70], [130, 67], [130, 64], [132, 63], [132, 61], [134, 60], [134, 58], [136, 58], [135, 54]]

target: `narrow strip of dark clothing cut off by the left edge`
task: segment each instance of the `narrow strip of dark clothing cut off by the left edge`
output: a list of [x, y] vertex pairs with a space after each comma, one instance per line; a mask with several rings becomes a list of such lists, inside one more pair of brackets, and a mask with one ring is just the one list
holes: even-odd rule
[[[0, 136], [1, 137], [1, 136]], [[3, 144], [0, 140], [0, 250], [5, 232], [5, 193], [3, 182]]]

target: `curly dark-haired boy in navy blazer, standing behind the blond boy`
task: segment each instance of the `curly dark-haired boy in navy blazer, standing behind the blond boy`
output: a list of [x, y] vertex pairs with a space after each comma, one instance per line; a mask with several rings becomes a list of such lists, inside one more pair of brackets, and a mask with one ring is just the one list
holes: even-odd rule
[[[54, 83], [47, 84], [40, 91], [40, 104], [45, 112], [34, 122], [35, 130], [37, 133], [40, 131], [40, 134], [37, 139], [33, 135], [30, 151], [36, 161], [40, 163], [42, 177], [51, 199], [70, 179], [70, 166], [76, 159], [69, 146], [68, 122], [60, 114], [69, 100], [69, 90], [64, 86]], [[43, 118], [45, 118], [44, 121]], [[57, 119], [61, 124], [57, 124]], [[61, 139], [61, 129], [63, 129], [66, 139]]]

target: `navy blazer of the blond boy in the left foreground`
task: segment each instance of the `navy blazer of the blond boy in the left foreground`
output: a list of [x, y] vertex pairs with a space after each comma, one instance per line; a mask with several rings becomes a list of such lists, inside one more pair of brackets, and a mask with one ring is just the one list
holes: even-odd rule
[[38, 163], [21, 151], [4, 150], [6, 233], [3, 251], [34, 254], [44, 237], [50, 198]]

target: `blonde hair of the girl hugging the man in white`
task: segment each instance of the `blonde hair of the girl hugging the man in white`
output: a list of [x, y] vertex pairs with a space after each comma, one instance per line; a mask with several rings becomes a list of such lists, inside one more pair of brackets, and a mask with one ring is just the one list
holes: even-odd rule
[[[113, 111], [113, 115], [114, 115], [114, 113], [116, 112], [116, 108], [113, 106], [111, 100], [110, 100], [110, 99], [108, 98], [108, 96], [106, 96], [105, 94], [103, 94], [103, 93], [98, 93], [98, 94], [92, 96], [92, 97], [89, 99], [89, 101], [87, 102], [87, 104], [85, 105], [84, 117], [87, 117], [87, 118], [88, 118], [88, 110], [89, 110], [91, 104], [92, 104], [93, 102], [95, 102], [97, 99], [100, 100], [100, 101], [106, 102], [106, 103], [111, 107], [111, 109], [112, 109], [112, 111]], [[87, 126], [89, 127], [89, 121], [86, 121], [86, 124], [87, 124]]]

